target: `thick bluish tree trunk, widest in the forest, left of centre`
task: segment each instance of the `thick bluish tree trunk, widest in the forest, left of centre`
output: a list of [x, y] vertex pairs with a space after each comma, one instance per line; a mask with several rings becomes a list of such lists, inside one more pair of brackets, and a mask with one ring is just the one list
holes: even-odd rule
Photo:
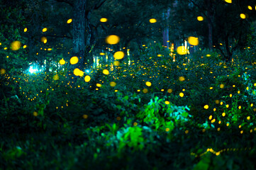
[[[79, 62], [74, 67], [84, 70], [85, 26], [87, 0], [75, 0], [73, 16], [73, 49], [72, 56], [77, 56]], [[74, 69], [74, 67], [71, 67]], [[71, 70], [72, 72], [72, 70]]]

